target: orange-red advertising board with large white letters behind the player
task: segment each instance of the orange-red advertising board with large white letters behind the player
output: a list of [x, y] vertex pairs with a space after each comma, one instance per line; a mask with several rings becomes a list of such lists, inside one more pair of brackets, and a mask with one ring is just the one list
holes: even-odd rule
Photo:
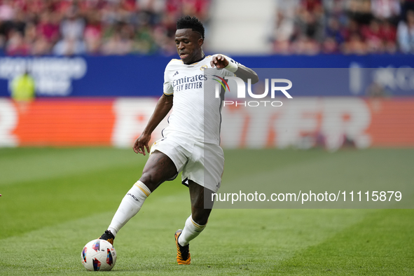
[[[0, 146], [131, 146], [156, 98], [0, 98]], [[414, 99], [297, 97], [279, 107], [223, 106], [222, 146], [329, 149], [344, 139], [357, 147], [414, 146]], [[153, 132], [160, 138], [163, 121]]]

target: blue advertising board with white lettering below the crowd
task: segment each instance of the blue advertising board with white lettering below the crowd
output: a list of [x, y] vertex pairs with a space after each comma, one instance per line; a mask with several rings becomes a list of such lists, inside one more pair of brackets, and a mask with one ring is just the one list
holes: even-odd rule
[[[37, 97], [158, 97], [171, 58], [175, 57], [0, 57], [0, 97], [10, 96], [11, 81], [24, 71], [34, 77]], [[382, 85], [389, 95], [414, 96], [414, 55], [233, 58], [251, 68], [279, 69], [281, 76], [270, 77], [291, 79], [296, 96], [364, 96], [371, 83]]]

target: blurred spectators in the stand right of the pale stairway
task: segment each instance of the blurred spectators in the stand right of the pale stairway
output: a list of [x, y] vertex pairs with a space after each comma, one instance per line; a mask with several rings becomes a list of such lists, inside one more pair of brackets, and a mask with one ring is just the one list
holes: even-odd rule
[[274, 53], [414, 53], [414, 0], [279, 0]]

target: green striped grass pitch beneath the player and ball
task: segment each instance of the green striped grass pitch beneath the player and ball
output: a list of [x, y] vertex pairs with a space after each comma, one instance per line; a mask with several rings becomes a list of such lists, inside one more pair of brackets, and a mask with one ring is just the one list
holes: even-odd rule
[[[223, 185], [251, 172], [283, 168], [301, 175], [309, 166], [346, 160], [359, 160], [358, 170], [332, 167], [319, 180], [392, 183], [414, 175], [413, 149], [225, 154]], [[241, 171], [246, 155], [263, 162]], [[0, 275], [88, 273], [83, 245], [108, 226], [145, 162], [120, 149], [0, 149]], [[108, 273], [414, 275], [412, 209], [214, 209], [205, 232], [191, 242], [192, 264], [179, 266], [174, 233], [189, 214], [186, 187], [177, 180], [160, 186], [116, 237], [118, 259]]]

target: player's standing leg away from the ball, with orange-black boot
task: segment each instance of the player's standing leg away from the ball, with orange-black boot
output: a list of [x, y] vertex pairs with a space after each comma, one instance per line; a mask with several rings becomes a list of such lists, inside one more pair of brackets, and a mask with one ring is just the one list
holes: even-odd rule
[[[196, 184], [194, 181], [188, 181], [191, 198], [191, 216], [186, 220], [183, 230], [177, 230], [175, 240], [177, 244], [177, 263], [181, 265], [189, 265], [191, 256], [189, 251], [189, 242], [200, 235], [204, 230], [212, 212], [212, 202], [209, 201], [205, 206], [206, 200], [211, 198], [213, 191]], [[205, 208], [207, 207], [207, 208]]]

